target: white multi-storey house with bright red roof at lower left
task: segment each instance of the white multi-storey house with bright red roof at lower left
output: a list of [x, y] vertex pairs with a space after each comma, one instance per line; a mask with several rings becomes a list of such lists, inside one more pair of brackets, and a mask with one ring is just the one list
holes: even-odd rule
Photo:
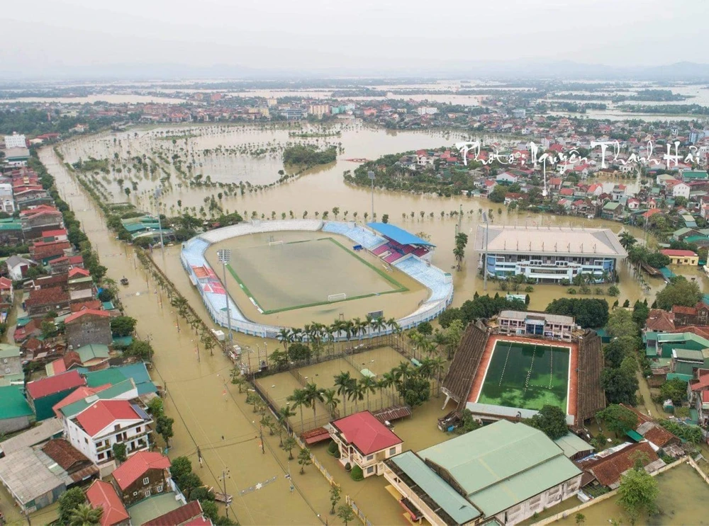
[[95, 464], [112, 460], [114, 444], [126, 453], [150, 450], [152, 418], [127, 400], [99, 400], [65, 421], [67, 439]]

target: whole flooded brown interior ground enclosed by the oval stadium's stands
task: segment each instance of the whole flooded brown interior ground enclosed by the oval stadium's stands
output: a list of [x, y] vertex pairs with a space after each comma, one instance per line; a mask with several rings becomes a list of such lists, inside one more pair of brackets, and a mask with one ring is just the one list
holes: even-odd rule
[[[284, 244], [269, 246], [272, 239]], [[367, 251], [352, 251], [352, 241], [334, 234], [283, 231], [221, 241], [206, 252], [220, 278], [216, 253], [221, 248], [232, 249], [230, 295], [248, 319], [264, 324], [331, 324], [340, 314], [364, 319], [379, 310], [386, 318], [400, 318], [429, 295], [401, 270], [385, 268]], [[345, 301], [329, 301], [328, 296], [340, 293], [347, 295]]]

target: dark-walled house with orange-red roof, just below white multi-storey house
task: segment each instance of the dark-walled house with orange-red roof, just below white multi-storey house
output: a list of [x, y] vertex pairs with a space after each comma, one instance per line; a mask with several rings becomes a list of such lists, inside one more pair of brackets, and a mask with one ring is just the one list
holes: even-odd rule
[[140, 451], [111, 474], [111, 481], [125, 505], [133, 505], [151, 495], [172, 491], [170, 459], [157, 452]]

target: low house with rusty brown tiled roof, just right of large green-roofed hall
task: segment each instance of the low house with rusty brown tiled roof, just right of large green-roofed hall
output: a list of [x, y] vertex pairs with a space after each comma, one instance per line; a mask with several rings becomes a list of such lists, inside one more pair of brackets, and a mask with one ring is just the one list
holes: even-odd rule
[[576, 462], [576, 466], [585, 471], [584, 486], [595, 482], [594, 485], [615, 489], [620, 484], [620, 476], [635, 466], [635, 459], [638, 457], [642, 458], [643, 467], [650, 474], [665, 465], [649, 442], [639, 442], [626, 443], [620, 450], [611, 454]]

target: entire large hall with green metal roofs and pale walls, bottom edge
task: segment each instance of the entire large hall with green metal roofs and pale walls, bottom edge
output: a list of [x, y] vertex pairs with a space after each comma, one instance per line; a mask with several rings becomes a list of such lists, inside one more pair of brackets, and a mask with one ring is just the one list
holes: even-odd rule
[[581, 470], [559, 445], [523, 423], [498, 421], [385, 462], [384, 477], [413, 520], [514, 525], [574, 496]]

